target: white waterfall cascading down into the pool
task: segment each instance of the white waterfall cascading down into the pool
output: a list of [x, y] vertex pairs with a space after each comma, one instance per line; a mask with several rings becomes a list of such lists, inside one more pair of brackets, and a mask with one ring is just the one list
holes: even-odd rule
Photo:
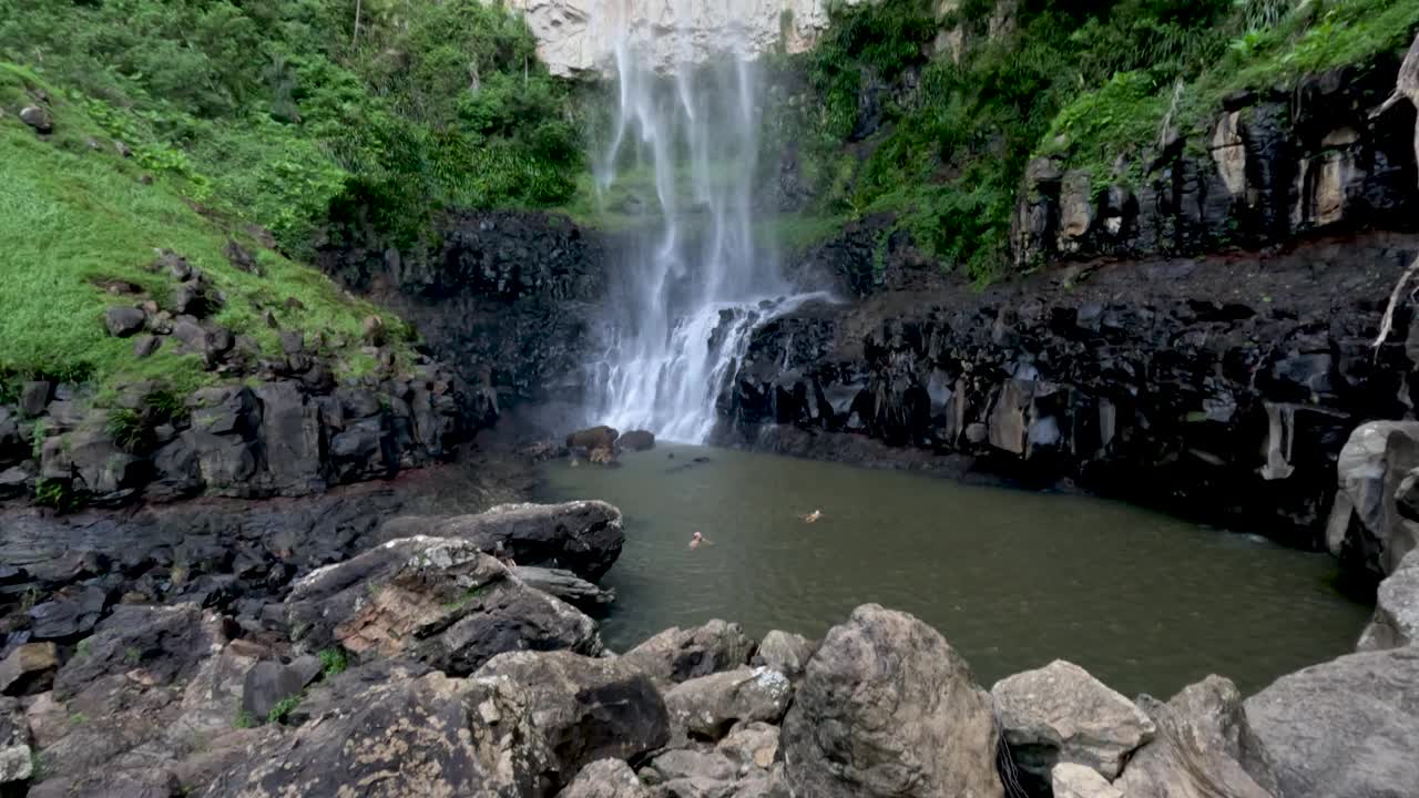
[[650, 70], [647, 41], [613, 35], [620, 101], [597, 185], [604, 197], [651, 177], [658, 207], [617, 253], [590, 406], [596, 422], [701, 443], [749, 334], [800, 301], [753, 234], [759, 74], [732, 30], [712, 64], [691, 62], [687, 34], [663, 33], [684, 54], [668, 77]]

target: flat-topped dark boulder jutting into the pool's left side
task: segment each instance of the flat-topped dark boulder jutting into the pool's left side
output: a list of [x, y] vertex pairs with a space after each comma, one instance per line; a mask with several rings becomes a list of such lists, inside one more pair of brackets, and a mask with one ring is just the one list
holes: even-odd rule
[[518, 565], [565, 568], [593, 582], [626, 542], [620, 510], [604, 501], [499, 504], [477, 515], [402, 515], [380, 530], [385, 541], [414, 535], [461, 538], [484, 552], [507, 554]]

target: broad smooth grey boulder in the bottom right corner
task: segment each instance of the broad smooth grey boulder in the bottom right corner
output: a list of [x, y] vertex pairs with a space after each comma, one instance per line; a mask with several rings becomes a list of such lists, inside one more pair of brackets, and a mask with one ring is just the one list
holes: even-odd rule
[[1419, 646], [1342, 656], [1246, 700], [1280, 798], [1419, 791]]

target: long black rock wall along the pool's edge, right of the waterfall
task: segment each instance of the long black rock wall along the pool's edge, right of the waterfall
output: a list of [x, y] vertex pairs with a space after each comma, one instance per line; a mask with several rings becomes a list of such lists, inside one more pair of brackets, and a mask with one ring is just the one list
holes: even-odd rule
[[1419, 396], [1410, 311], [1369, 346], [1415, 236], [1074, 267], [978, 293], [905, 244], [866, 280], [854, 234], [806, 263], [871, 294], [763, 325], [721, 395], [719, 442], [912, 467], [954, 456], [958, 471], [1320, 548], [1347, 436], [1412, 416]]

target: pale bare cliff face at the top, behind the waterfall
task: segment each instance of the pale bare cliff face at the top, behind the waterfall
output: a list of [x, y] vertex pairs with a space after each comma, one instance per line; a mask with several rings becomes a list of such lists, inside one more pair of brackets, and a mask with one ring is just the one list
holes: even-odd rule
[[[847, 0], [856, 6], [863, 0]], [[827, 27], [829, 0], [512, 0], [553, 75], [604, 70], [622, 35], [648, 47], [657, 71], [732, 50], [802, 53]]]

